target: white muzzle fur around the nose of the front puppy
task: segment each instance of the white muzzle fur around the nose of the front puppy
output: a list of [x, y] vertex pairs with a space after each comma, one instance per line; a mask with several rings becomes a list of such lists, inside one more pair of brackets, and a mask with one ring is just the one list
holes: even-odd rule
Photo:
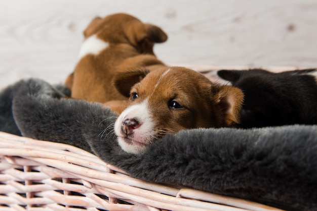
[[147, 99], [145, 99], [141, 103], [131, 105], [125, 111], [123, 111], [115, 121], [114, 132], [118, 136], [118, 143], [121, 148], [127, 152], [137, 154], [143, 151], [146, 146], [135, 145], [133, 143], [130, 144], [124, 140], [125, 134], [123, 134], [121, 131], [121, 125], [124, 120], [135, 118], [141, 124], [140, 127], [134, 129], [132, 137], [138, 142], [149, 144], [153, 138], [153, 135], [155, 134], [153, 119], [149, 113], [147, 104]]

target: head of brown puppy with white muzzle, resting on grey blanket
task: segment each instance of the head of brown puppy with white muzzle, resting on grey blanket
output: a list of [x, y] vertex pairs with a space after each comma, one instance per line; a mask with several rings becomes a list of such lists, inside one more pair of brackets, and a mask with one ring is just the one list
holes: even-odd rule
[[130, 153], [141, 153], [166, 133], [239, 123], [242, 91], [212, 83], [190, 69], [165, 67], [130, 71], [117, 74], [114, 85], [124, 96], [130, 97], [128, 108], [114, 125], [118, 143]]

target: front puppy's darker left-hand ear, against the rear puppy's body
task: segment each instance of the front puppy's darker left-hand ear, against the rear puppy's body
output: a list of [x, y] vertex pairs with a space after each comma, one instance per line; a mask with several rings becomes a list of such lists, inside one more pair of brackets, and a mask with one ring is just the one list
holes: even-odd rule
[[140, 82], [148, 73], [149, 70], [146, 69], [117, 73], [113, 77], [112, 83], [122, 95], [130, 97], [130, 90], [132, 86]]

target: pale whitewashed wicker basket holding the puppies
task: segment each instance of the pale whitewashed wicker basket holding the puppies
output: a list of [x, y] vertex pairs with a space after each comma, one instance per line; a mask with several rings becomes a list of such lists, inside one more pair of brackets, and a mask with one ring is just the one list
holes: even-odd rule
[[82, 149], [0, 132], [0, 210], [278, 210], [129, 177]]

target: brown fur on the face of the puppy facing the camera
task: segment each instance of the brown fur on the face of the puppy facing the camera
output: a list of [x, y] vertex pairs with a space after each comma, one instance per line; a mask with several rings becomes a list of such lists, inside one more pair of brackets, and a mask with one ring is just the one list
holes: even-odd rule
[[[131, 91], [128, 91], [130, 90], [128, 87], [125, 91], [122, 90], [123, 94], [129, 92], [129, 96], [134, 92], [138, 93], [137, 99], [129, 99], [128, 106], [148, 98], [151, 115], [156, 125], [163, 124], [157, 128], [170, 128], [174, 131], [189, 128], [227, 127], [239, 123], [239, 113], [243, 102], [243, 93], [240, 89], [214, 84], [204, 75], [182, 67], [171, 67], [168, 75], [162, 78], [159, 85], [154, 88], [167, 69], [169, 68], [151, 72], [136, 71], [136, 75], [140, 74], [139, 80], [144, 78], [136, 83]], [[124, 78], [124, 74], [118, 74], [114, 80], [124, 83], [127, 79]], [[117, 88], [123, 89], [122, 86]], [[178, 111], [170, 109], [168, 102], [171, 99], [176, 100], [185, 109]]]

